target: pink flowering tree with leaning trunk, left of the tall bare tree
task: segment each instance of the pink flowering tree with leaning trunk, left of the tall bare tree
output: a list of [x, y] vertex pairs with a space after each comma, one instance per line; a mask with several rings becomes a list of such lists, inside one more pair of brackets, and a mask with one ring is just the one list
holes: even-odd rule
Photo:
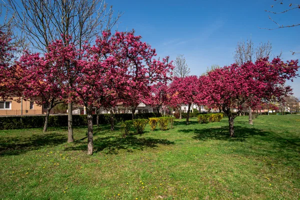
[[24, 52], [16, 65], [20, 68], [21, 79], [19, 86], [25, 99], [31, 99], [36, 104], [46, 106], [46, 116], [43, 131], [47, 131], [48, 117], [50, 110], [62, 99], [62, 88], [52, 73], [52, 64], [39, 53]]

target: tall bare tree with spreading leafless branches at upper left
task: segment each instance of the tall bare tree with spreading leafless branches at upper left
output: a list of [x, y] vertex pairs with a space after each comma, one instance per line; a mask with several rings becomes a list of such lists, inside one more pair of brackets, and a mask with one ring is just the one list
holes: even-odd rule
[[[13, 24], [32, 48], [47, 52], [55, 39], [72, 42], [81, 49], [83, 42], [91, 42], [102, 30], [110, 30], [122, 13], [114, 17], [112, 5], [104, 0], [7, 0]], [[65, 37], [71, 36], [67, 42]], [[68, 63], [64, 66], [68, 70]], [[75, 78], [75, 77], [74, 77]], [[72, 85], [72, 79], [68, 84]], [[73, 141], [72, 103], [68, 103], [68, 142]]]

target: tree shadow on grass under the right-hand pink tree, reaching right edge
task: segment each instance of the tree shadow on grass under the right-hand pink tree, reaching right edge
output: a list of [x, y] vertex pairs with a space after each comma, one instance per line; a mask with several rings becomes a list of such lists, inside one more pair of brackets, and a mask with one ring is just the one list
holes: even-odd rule
[[235, 137], [229, 137], [228, 126], [181, 129], [179, 131], [194, 133], [192, 138], [201, 141], [246, 142], [244, 148], [239, 148], [238, 152], [235, 152], [244, 156], [268, 156], [274, 161], [279, 160], [281, 163], [291, 166], [298, 166], [298, 163], [300, 163], [300, 156], [298, 156], [300, 153], [300, 138], [290, 137], [288, 132], [278, 134], [272, 131], [242, 126], [234, 126]]

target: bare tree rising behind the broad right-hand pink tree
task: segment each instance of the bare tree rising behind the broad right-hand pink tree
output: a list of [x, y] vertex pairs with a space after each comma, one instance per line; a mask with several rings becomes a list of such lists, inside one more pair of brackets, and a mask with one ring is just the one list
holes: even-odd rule
[[[246, 42], [243, 40], [237, 42], [233, 58], [237, 64], [244, 64], [248, 61], [254, 62], [256, 59], [261, 57], [268, 57], [270, 56], [271, 51], [272, 44], [269, 41], [267, 41], [266, 43], [260, 42], [258, 46], [254, 48], [254, 44], [250, 37], [250, 39], [247, 39]], [[248, 112], [249, 124], [253, 124], [252, 109], [250, 106], [248, 107]]]

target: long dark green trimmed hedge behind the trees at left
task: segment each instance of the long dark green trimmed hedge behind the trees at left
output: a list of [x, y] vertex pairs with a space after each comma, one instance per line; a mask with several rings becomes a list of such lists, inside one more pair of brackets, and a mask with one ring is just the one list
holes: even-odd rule
[[[99, 123], [109, 123], [110, 114], [99, 114]], [[149, 118], [161, 116], [159, 113], [139, 113], [134, 114], [135, 118]], [[96, 124], [96, 114], [93, 114], [93, 124]], [[130, 120], [130, 113], [114, 114], [114, 122]], [[3, 116], [0, 117], [0, 129], [20, 129], [20, 128], [36, 128], [43, 127], [45, 116]], [[73, 115], [73, 126], [87, 125], [87, 117], [85, 114]], [[49, 127], [67, 126], [67, 115], [50, 115], [48, 120]]]

